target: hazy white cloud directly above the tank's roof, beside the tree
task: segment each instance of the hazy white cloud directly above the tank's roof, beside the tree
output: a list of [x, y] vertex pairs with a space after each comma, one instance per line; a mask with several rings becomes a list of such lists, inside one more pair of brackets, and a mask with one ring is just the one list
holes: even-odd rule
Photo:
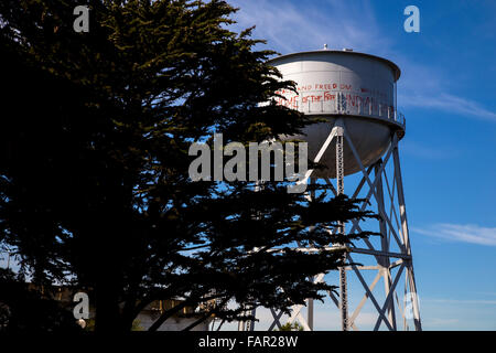
[[319, 6], [287, 0], [230, 2], [240, 8], [235, 17], [239, 28], [256, 25], [255, 36], [266, 39], [269, 47], [282, 53], [319, 50], [324, 44], [370, 52], [390, 43], [380, 35], [368, 1], [328, 0]]

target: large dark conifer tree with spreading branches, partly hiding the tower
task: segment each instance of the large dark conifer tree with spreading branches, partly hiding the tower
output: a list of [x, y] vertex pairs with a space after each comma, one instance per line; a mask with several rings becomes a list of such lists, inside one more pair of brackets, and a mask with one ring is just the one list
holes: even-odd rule
[[100, 331], [130, 330], [155, 299], [183, 301], [151, 330], [184, 306], [233, 320], [229, 300], [288, 310], [333, 289], [309, 278], [341, 253], [291, 246], [367, 236], [328, 233], [370, 216], [354, 201], [187, 173], [191, 142], [214, 130], [247, 143], [311, 124], [276, 105], [294, 86], [266, 64], [274, 53], [227, 29], [224, 1], [88, 1], [88, 33], [73, 30], [79, 4], [0, 3], [0, 242], [21, 269], [94, 289]]

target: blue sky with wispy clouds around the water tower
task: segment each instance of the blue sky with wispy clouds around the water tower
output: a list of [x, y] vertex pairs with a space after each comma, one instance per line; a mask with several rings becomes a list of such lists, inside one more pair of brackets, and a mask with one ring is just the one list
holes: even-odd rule
[[[261, 47], [287, 54], [326, 43], [400, 66], [401, 168], [423, 329], [496, 330], [496, 2], [230, 3], [240, 8], [235, 29], [256, 25], [254, 36], [268, 41]], [[410, 4], [420, 33], [403, 30]], [[316, 307], [316, 329], [338, 328], [330, 307]], [[362, 320], [374, 322], [373, 311]]]

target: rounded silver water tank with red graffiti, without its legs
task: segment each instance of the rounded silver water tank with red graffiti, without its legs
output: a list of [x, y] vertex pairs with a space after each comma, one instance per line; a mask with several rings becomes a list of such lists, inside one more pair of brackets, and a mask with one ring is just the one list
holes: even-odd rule
[[[392, 135], [405, 135], [405, 119], [396, 108], [396, 82], [399, 67], [392, 62], [352, 50], [312, 51], [274, 57], [283, 79], [296, 83], [298, 94], [278, 92], [277, 104], [305, 115], [325, 119], [306, 127], [296, 138], [309, 142], [309, 158], [315, 158], [337, 118], [343, 118], [364, 167], [375, 163], [387, 150]], [[315, 170], [313, 178], [336, 178], [335, 145], [321, 159], [327, 168]], [[344, 173], [360, 170], [347, 142], [344, 146]]]

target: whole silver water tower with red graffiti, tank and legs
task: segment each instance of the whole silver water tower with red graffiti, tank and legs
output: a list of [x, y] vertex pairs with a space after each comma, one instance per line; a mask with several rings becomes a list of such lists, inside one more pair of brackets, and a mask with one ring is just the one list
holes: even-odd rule
[[[346, 186], [347, 195], [366, 200], [362, 210], [380, 215], [370, 231], [381, 235], [347, 248], [348, 263], [364, 265], [341, 268], [339, 296], [328, 293], [339, 312], [342, 330], [359, 329], [365, 306], [369, 307], [368, 321], [370, 317], [374, 321], [370, 329], [421, 330], [398, 151], [405, 136], [405, 118], [396, 104], [399, 67], [382, 57], [326, 46], [282, 55], [270, 64], [284, 79], [296, 83], [298, 94], [280, 92], [285, 99], [280, 98], [278, 104], [326, 120], [308, 127], [300, 137], [309, 142], [309, 158], [327, 167], [309, 170], [306, 182], [325, 182], [335, 195], [344, 193]], [[346, 225], [347, 229], [343, 224], [334, 232], [351, 234], [366, 227], [370, 227], [370, 221], [356, 221]], [[330, 244], [330, 249], [338, 246]], [[314, 280], [326, 278], [322, 274]], [[376, 286], [380, 281], [382, 289]], [[287, 322], [298, 321], [304, 330], [313, 330], [313, 301], [308, 301], [306, 315], [303, 308], [293, 307]], [[269, 330], [285, 323], [282, 313], [271, 313]], [[241, 322], [239, 328], [254, 330], [254, 323]]]

